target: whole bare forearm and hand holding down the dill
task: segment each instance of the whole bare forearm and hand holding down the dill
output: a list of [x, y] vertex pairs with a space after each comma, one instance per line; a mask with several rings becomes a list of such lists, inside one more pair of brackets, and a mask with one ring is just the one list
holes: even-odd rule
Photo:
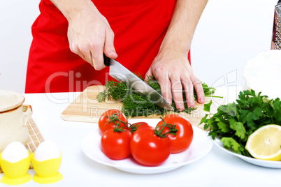
[[192, 37], [208, 0], [178, 0], [172, 20], [146, 76], [154, 75], [161, 83], [161, 93], [170, 103], [173, 99], [178, 110], [185, 109], [182, 90], [187, 106], [194, 107], [194, 90], [197, 101], [204, 103], [204, 91], [187, 60]]

